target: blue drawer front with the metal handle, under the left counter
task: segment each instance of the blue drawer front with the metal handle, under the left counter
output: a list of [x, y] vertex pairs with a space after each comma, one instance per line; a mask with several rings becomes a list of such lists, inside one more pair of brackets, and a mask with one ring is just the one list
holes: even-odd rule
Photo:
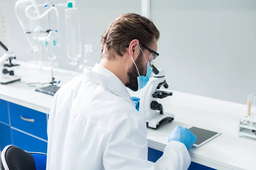
[[11, 125], [47, 140], [47, 115], [14, 103], [9, 103]]

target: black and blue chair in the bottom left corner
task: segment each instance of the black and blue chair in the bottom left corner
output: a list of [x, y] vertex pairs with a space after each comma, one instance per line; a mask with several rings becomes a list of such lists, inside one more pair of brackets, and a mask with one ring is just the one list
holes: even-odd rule
[[46, 170], [47, 154], [26, 152], [15, 145], [6, 146], [1, 154], [1, 170]]

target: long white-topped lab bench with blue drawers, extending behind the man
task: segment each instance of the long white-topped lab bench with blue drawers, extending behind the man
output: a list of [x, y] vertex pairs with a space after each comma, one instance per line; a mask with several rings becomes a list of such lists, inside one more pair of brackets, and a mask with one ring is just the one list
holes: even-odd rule
[[[0, 129], [10, 129], [10, 133], [2, 135], [11, 137], [9, 141], [0, 137], [0, 142], [3, 141], [0, 144], [1, 149], [5, 144], [15, 144], [30, 151], [35, 149], [35, 142], [42, 148], [47, 145], [45, 128], [52, 96], [36, 92], [35, 88], [27, 87], [26, 83], [50, 82], [51, 73], [49, 68], [39, 69], [27, 62], [20, 64], [15, 68], [15, 74], [21, 76], [21, 82], [0, 85]], [[79, 74], [81, 73], [61, 69], [54, 71], [55, 79], [61, 80], [60, 86]], [[169, 88], [172, 88], [171, 82]], [[140, 96], [139, 92], [129, 92]], [[175, 119], [171, 123], [164, 123], [157, 130], [148, 129], [148, 147], [163, 151], [170, 131], [177, 125], [201, 127], [222, 134], [199, 148], [191, 148], [189, 153], [193, 162], [218, 170], [256, 169], [256, 140], [238, 137], [239, 116], [246, 114], [246, 105], [172, 92], [173, 96], [162, 99], [161, 103], [164, 111], [173, 113]], [[6, 115], [2, 116], [4, 114]], [[34, 124], [20, 119], [24, 115], [26, 119], [33, 119]], [[26, 142], [20, 142], [21, 140]], [[45, 149], [38, 151], [44, 152]]]

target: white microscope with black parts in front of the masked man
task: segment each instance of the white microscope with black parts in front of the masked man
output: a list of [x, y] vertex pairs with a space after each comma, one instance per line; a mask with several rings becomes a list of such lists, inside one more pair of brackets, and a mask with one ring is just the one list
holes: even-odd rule
[[174, 115], [164, 113], [163, 106], [157, 102], [157, 99], [163, 99], [167, 96], [172, 96], [172, 92], [159, 90], [161, 86], [168, 88], [165, 80], [165, 73], [161, 69], [157, 69], [154, 65], [151, 66], [153, 77], [151, 77], [147, 85], [141, 89], [140, 96], [140, 113], [145, 116], [147, 127], [157, 129], [164, 121], [172, 122]]

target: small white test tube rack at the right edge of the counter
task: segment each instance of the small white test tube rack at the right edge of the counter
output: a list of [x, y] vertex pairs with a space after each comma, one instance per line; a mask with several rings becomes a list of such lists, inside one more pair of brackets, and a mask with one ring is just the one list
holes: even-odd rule
[[253, 115], [239, 117], [238, 136], [247, 136], [256, 139], [256, 117]]

